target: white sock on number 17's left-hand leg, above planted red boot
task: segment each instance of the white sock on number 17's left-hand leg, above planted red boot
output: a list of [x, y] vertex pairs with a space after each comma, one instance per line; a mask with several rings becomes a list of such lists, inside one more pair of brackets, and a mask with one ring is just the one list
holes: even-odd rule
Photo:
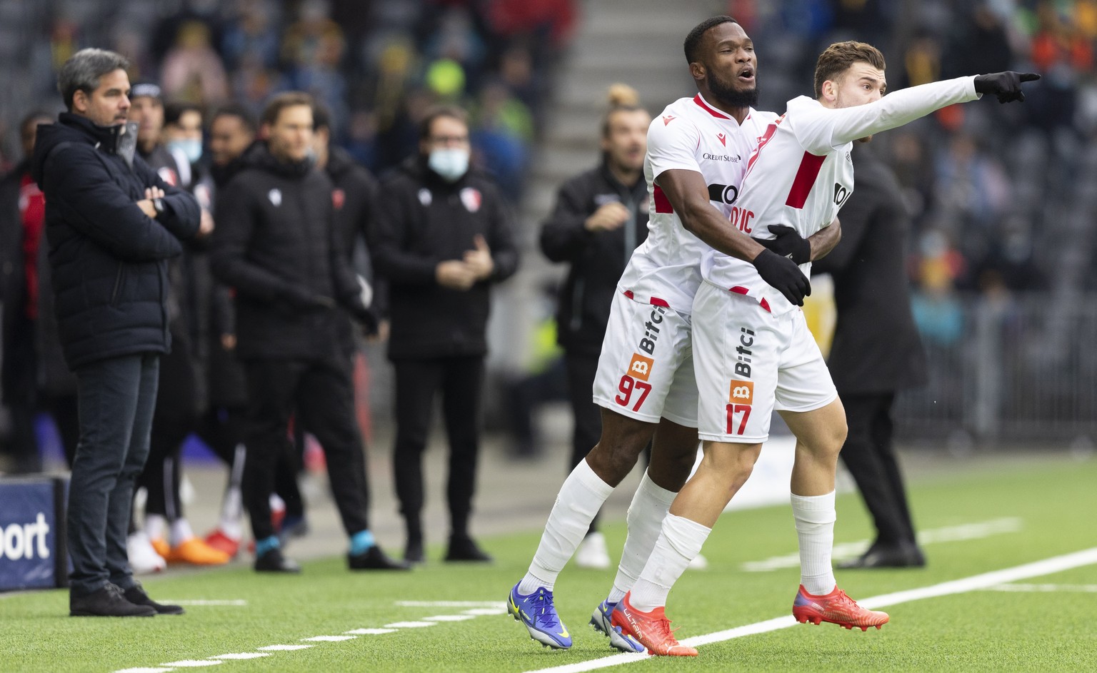
[[632, 588], [629, 603], [645, 613], [665, 606], [670, 588], [686, 572], [689, 562], [701, 554], [710, 533], [712, 528], [668, 513], [652, 556]]

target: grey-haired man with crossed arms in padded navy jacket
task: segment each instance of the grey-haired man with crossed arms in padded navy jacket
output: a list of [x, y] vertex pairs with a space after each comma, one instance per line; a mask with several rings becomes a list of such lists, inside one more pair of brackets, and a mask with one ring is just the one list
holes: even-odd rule
[[[78, 380], [68, 543], [75, 616], [182, 612], [152, 603], [126, 561], [134, 478], [148, 454], [159, 355], [168, 352], [168, 263], [199, 228], [194, 198], [135, 157], [129, 64], [82, 49], [61, 67], [69, 112], [39, 126], [32, 175], [46, 237], [61, 347]], [[178, 237], [178, 238], [177, 238]]]

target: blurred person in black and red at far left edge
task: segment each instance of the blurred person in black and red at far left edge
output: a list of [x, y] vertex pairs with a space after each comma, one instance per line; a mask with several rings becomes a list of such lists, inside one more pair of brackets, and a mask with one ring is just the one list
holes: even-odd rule
[[79, 438], [76, 377], [61, 355], [54, 316], [45, 197], [31, 178], [31, 155], [38, 125], [53, 122], [52, 115], [41, 111], [20, 121], [23, 158], [0, 181], [0, 305], [3, 307], [0, 392], [10, 414], [7, 453], [8, 471], [13, 475], [43, 469], [35, 433], [35, 418], [39, 413], [48, 413], [57, 424], [69, 464]]

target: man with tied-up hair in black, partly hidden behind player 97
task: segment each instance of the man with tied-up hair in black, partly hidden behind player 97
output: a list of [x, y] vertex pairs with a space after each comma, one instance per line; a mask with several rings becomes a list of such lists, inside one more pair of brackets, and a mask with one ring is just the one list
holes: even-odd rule
[[[570, 264], [556, 313], [575, 418], [569, 468], [586, 457], [601, 435], [601, 413], [591, 390], [618, 281], [633, 250], [647, 238], [644, 151], [651, 122], [635, 92], [615, 85], [602, 122], [601, 164], [561, 186], [556, 207], [541, 226], [545, 256]], [[576, 563], [610, 564], [597, 518], [576, 552]]]

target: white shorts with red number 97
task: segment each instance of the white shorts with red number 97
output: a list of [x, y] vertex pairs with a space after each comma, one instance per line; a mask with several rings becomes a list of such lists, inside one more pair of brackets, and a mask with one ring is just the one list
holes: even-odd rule
[[690, 318], [613, 295], [595, 375], [595, 403], [637, 421], [697, 427]]

